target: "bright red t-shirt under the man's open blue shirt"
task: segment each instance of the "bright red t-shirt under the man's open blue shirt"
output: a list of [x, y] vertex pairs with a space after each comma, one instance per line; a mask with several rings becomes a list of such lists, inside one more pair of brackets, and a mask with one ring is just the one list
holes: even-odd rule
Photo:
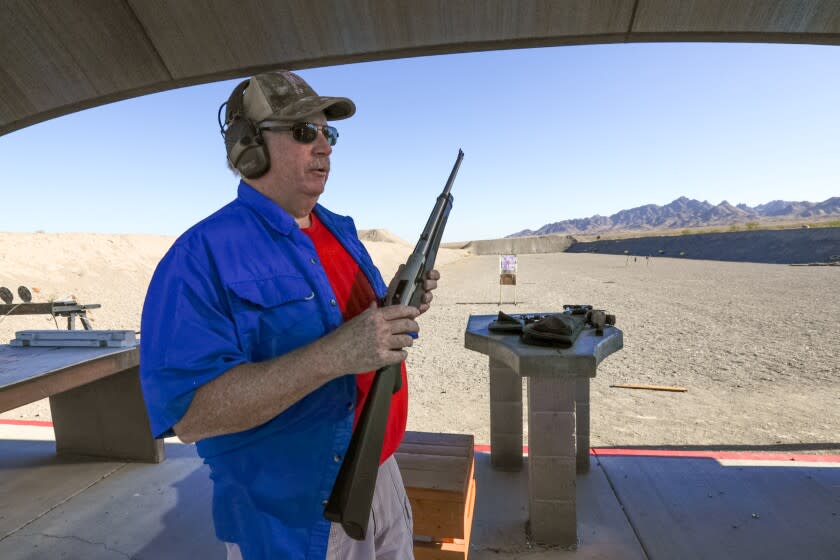
[[[373, 291], [367, 277], [359, 268], [358, 263], [346, 249], [338, 242], [329, 229], [326, 228], [315, 216], [309, 214], [312, 225], [303, 231], [315, 244], [315, 250], [321, 259], [321, 264], [327, 273], [327, 279], [335, 292], [335, 299], [345, 321], [349, 321], [356, 315], [376, 301], [376, 293]], [[391, 412], [388, 416], [388, 426], [385, 428], [385, 441], [382, 445], [382, 456], [379, 463], [385, 462], [402, 443], [405, 434], [405, 424], [408, 419], [408, 380], [405, 372], [405, 362], [402, 368], [402, 387], [391, 397]], [[367, 395], [373, 385], [373, 378], [376, 372], [369, 371], [356, 375], [356, 417], [353, 420], [353, 428], [359, 422], [362, 408], [367, 400]]]

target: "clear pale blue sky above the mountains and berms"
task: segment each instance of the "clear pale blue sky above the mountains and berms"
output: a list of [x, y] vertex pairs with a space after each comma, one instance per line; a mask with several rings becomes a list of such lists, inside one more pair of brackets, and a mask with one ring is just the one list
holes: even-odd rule
[[[679, 196], [755, 205], [840, 195], [838, 47], [591, 45], [300, 74], [357, 105], [335, 123], [321, 202], [410, 242], [459, 148], [445, 241]], [[181, 233], [235, 196], [216, 112], [237, 82], [0, 137], [0, 231]]]

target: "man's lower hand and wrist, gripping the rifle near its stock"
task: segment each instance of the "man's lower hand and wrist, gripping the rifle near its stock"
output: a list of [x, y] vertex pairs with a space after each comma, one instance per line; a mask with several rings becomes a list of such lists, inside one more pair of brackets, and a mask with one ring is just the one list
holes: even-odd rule
[[403, 348], [414, 343], [408, 333], [420, 330], [414, 321], [418, 315], [420, 311], [408, 305], [377, 307], [376, 302], [371, 303], [328, 335], [330, 348], [348, 373], [398, 364], [408, 357]]

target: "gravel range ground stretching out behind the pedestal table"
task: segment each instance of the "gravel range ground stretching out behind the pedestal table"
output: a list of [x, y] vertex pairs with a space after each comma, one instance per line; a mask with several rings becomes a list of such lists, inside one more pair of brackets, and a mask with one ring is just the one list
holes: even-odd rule
[[[409, 427], [489, 443], [487, 358], [463, 338], [470, 314], [500, 309], [498, 257], [442, 274], [409, 359]], [[520, 256], [517, 279], [506, 312], [590, 303], [617, 315], [625, 347], [592, 380], [593, 446], [840, 450], [840, 268], [561, 253]]]

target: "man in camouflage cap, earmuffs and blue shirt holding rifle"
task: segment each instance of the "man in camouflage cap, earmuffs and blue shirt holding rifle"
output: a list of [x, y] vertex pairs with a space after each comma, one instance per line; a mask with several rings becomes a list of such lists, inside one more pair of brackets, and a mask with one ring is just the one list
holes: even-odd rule
[[419, 310], [378, 307], [387, 288], [353, 221], [317, 203], [338, 138], [327, 122], [354, 112], [291, 72], [237, 86], [222, 130], [238, 196], [178, 238], [146, 296], [152, 430], [197, 442], [229, 559], [413, 557], [392, 457], [407, 417], [404, 366], [366, 539], [323, 516], [373, 372], [406, 358], [439, 279], [428, 274]]

